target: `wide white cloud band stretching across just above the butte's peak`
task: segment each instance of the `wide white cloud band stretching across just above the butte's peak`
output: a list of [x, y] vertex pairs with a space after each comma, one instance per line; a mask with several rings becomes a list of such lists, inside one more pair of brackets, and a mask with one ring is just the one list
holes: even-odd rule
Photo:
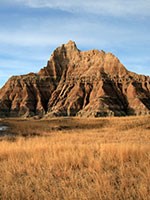
[[[26, 24], [26, 25], [24, 25]], [[14, 27], [13, 27], [14, 28]], [[138, 33], [138, 34], [137, 34]], [[105, 21], [86, 21], [85, 19], [28, 20], [13, 30], [0, 31], [0, 43], [20, 47], [54, 47], [68, 40], [75, 40], [81, 46], [108, 48], [127, 43], [147, 43], [149, 32], [138, 27], [128, 28], [121, 24]], [[96, 44], [96, 46], [94, 46]]]

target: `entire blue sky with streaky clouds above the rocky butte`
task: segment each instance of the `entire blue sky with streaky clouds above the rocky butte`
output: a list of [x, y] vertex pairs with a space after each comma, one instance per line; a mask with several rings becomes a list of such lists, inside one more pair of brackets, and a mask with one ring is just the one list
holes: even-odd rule
[[0, 87], [38, 72], [69, 40], [150, 75], [150, 0], [0, 0]]

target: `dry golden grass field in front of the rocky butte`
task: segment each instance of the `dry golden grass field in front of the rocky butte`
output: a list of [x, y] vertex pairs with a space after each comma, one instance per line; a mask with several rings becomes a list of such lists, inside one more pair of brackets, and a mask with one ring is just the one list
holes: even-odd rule
[[150, 116], [0, 123], [1, 200], [150, 199]]

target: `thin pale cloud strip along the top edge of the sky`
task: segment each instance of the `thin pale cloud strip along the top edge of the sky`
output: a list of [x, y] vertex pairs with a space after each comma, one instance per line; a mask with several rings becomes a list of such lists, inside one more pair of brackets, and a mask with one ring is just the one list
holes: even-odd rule
[[[10, 3], [10, 0], [5, 2]], [[150, 16], [149, 0], [14, 0], [33, 8], [54, 8], [69, 12], [87, 12], [98, 15], [125, 16], [140, 15]]]

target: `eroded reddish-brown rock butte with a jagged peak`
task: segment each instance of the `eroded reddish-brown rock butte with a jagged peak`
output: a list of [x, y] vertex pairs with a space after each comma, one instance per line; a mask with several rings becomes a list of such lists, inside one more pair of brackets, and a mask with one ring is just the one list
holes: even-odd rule
[[37, 74], [11, 77], [0, 90], [0, 116], [150, 114], [150, 77], [129, 72], [111, 53], [57, 48]]

